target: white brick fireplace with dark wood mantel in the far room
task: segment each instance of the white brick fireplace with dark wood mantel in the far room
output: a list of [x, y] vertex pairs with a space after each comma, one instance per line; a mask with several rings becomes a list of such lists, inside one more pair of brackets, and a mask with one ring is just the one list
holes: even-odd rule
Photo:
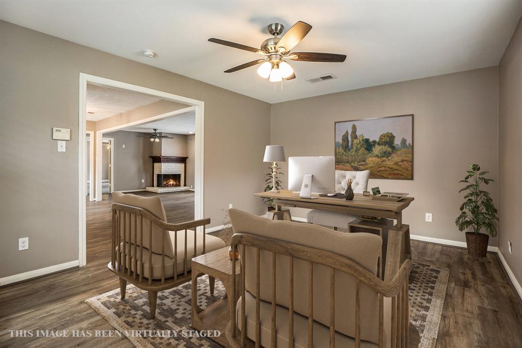
[[[175, 191], [187, 191], [187, 158], [179, 156], [149, 156], [152, 159], [152, 186], [146, 187], [147, 191], [163, 193]], [[181, 174], [181, 186], [158, 187], [158, 174]]]

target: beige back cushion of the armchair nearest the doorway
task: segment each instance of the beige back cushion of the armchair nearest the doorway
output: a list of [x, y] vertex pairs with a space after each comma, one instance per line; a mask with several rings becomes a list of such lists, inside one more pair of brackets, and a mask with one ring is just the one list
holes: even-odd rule
[[[155, 215], [158, 219], [163, 221], [167, 221], [167, 215], [165, 214], [165, 209], [163, 209], [163, 204], [161, 203], [161, 199], [159, 196], [153, 197], [141, 197], [133, 194], [122, 194], [121, 192], [113, 192], [112, 199], [115, 203], [121, 203], [127, 206], [138, 207], [141, 209], [145, 209]], [[123, 212], [122, 212], [123, 213]], [[139, 225], [139, 219], [137, 221]], [[127, 238], [124, 238], [124, 230], [126, 231]], [[139, 227], [138, 227], [139, 230]], [[131, 233], [132, 231], [132, 233]], [[131, 234], [130, 239], [131, 242], [134, 243], [134, 231], [135, 231], [135, 221], [131, 219], [130, 216], [127, 216], [125, 219], [125, 224], [121, 223], [120, 226], [120, 235], [123, 240], [129, 240], [129, 233]], [[174, 251], [172, 248], [172, 241], [170, 239], [169, 234], [163, 234], [163, 230], [152, 224], [152, 248], [149, 246], [149, 234], [150, 234], [150, 221], [148, 219], [143, 219], [143, 247], [149, 250], [152, 250], [152, 253], [161, 255], [161, 238], [164, 235], [165, 238], [165, 255], [170, 258], [174, 258]], [[137, 233], [139, 238], [139, 232]]]

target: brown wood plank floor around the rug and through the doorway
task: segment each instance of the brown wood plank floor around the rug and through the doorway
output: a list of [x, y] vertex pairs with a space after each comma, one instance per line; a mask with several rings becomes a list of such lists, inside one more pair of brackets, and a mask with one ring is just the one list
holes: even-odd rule
[[[153, 193], [138, 193], [155, 195]], [[107, 199], [105, 199], [107, 198]], [[192, 192], [162, 194], [169, 222], [194, 216]], [[111, 330], [84, 303], [118, 287], [110, 261], [110, 196], [87, 202], [87, 266], [0, 288], [0, 346], [132, 347], [125, 338], [11, 338], [8, 330]], [[496, 254], [412, 241], [414, 260], [450, 269], [437, 347], [522, 347], [522, 305]]]

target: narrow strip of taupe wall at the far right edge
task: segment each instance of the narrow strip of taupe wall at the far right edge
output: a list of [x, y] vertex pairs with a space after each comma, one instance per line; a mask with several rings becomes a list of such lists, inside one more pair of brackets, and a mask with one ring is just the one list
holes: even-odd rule
[[[500, 61], [499, 90], [499, 248], [522, 283], [522, 21]], [[508, 241], [513, 254], [509, 254]]]

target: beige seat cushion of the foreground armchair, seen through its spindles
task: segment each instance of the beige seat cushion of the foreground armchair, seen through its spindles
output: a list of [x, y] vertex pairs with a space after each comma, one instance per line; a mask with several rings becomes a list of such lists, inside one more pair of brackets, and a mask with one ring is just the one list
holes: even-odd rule
[[[256, 323], [256, 298], [249, 292], [246, 292], [245, 296], [245, 319], [246, 319], [246, 332], [248, 337], [255, 340], [255, 323]], [[390, 325], [390, 311], [392, 299], [389, 297], [384, 298], [384, 308], [388, 309], [387, 313], [384, 314], [385, 326]], [[260, 344], [263, 347], [270, 347], [271, 345], [271, 303], [266, 301], [259, 302], [259, 318], [261, 323], [261, 340]], [[241, 318], [241, 298], [239, 299], [236, 306], [236, 318]], [[242, 323], [238, 322], [240, 330]], [[327, 348], [329, 347], [329, 334], [330, 330], [328, 326], [325, 326], [317, 321], [314, 321], [314, 347], [316, 348]], [[288, 347], [288, 308], [282, 306], [276, 306], [276, 345], [278, 347]], [[294, 347], [295, 348], [307, 348], [308, 347], [308, 318], [298, 313], [294, 313]], [[253, 334], [251, 334], [253, 333]], [[355, 339], [342, 333], [335, 332], [335, 346], [339, 348], [351, 348], [355, 347]], [[377, 347], [378, 345], [369, 341], [361, 341], [361, 348]], [[389, 343], [387, 344], [389, 346]]]

